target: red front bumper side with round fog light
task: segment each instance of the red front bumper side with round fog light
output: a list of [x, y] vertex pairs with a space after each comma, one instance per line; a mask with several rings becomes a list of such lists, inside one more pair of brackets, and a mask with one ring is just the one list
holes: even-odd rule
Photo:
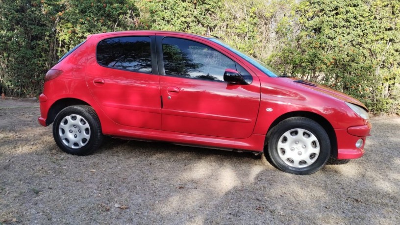
[[[338, 154], [337, 159], [356, 159], [363, 156], [365, 150], [365, 140], [370, 136], [372, 125], [351, 126], [346, 129], [335, 129]], [[360, 148], [355, 146], [355, 143], [362, 139], [363, 144]]]

